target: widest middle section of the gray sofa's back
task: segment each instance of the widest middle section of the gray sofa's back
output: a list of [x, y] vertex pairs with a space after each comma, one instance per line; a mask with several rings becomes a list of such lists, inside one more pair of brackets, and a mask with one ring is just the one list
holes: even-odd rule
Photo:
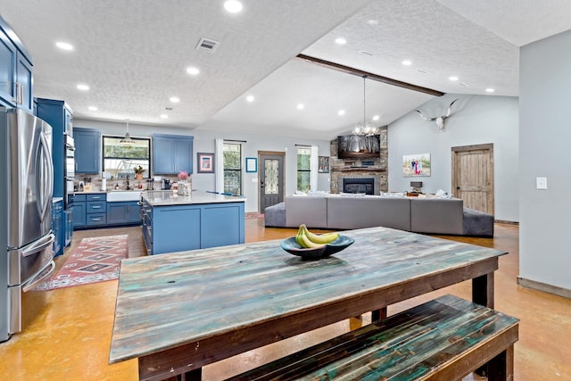
[[327, 198], [327, 228], [371, 227], [410, 230], [410, 200], [380, 196]]

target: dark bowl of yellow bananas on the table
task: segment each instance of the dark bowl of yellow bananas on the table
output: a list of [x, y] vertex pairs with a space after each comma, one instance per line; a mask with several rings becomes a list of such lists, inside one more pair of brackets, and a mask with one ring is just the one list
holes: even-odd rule
[[319, 260], [341, 252], [344, 248], [354, 243], [351, 236], [342, 236], [339, 233], [311, 233], [302, 224], [297, 231], [297, 236], [292, 236], [282, 241], [281, 246], [287, 253], [298, 255], [305, 260]]

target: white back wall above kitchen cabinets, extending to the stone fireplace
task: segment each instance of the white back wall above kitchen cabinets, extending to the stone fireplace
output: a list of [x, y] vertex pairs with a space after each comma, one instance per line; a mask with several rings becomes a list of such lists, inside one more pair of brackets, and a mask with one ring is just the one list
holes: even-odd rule
[[[99, 120], [73, 120], [74, 127], [97, 128], [103, 135], [125, 135], [125, 123], [116, 123]], [[263, 135], [236, 134], [234, 132], [203, 131], [201, 129], [184, 129], [144, 126], [129, 123], [131, 137], [151, 137], [154, 133], [172, 135], [190, 135], [194, 137], [194, 173], [192, 175], [193, 189], [215, 190], [215, 179], [211, 173], [196, 173], [196, 153], [214, 153], [214, 139], [245, 140], [244, 162], [246, 157], [258, 157], [258, 151], [285, 152], [285, 195], [291, 195], [296, 188], [297, 150], [295, 145], [317, 145], [320, 156], [329, 156], [329, 141], [297, 139], [291, 137], [268, 137]], [[243, 165], [245, 163], [243, 162]], [[260, 166], [260, 162], [258, 163]], [[260, 170], [260, 168], [258, 168]], [[245, 211], [258, 211], [258, 173], [245, 173], [244, 171], [244, 195], [246, 203]], [[318, 189], [329, 190], [329, 175], [318, 175]]]

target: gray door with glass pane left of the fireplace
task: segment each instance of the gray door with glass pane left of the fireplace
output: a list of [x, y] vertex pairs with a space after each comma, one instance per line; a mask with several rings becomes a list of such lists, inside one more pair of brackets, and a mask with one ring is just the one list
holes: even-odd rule
[[260, 211], [284, 201], [284, 158], [285, 153], [259, 152], [260, 162]]

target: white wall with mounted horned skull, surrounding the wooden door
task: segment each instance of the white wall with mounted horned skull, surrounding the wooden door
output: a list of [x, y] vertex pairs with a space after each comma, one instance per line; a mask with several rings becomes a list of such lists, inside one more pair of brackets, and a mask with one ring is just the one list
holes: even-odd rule
[[[515, 97], [444, 95], [418, 107], [426, 117], [452, 114], [439, 132], [434, 121], [412, 111], [388, 127], [389, 190], [410, 190], [410, 181], [422, 181], [425, 193], [451, 193], [451, 147], [493, 144], [495, 219], [518, 221], [518, 102]], [[404, 178], [402, 156], [430, 153], [431, 176]]]

